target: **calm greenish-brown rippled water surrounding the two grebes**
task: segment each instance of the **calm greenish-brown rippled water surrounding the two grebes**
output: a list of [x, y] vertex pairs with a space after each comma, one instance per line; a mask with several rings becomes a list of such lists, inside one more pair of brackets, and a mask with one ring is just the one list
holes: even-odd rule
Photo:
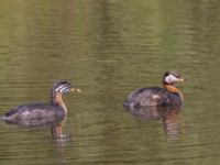
[[[0, 113], [48, 101], [56, 79], [82, 90], [64, 97], [68, 140], [0, 122], [0, 164], [217, 164], [219, 14], [215, 0], [0, 1]], [[180, 111], [147, 120], [122, 108], [169, 69], [187, 78]]]

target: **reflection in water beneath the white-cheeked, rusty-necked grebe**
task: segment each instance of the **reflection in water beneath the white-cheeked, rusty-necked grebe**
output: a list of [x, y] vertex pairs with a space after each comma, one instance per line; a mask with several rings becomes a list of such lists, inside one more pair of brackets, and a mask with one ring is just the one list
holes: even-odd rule
[[184, 136], [185, 124], [180, 118], [180, 107], [142, 107], [127, 110], [141, 120], [162, 120], [164, 131], [170, 140]]

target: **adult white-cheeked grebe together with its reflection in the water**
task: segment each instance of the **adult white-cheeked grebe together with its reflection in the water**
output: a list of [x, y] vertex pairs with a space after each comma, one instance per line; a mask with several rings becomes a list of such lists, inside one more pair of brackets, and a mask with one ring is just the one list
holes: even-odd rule
[[128, 96], [123, 107], [144, 120], [162, 119], [167, 135], [175, 138], [184, 131], [184, 124], [179, 123], [184, 96], [175, 86], [179, 81], [185, 81], [179, 73], [175, 70], [166, 72], [162, 78], [164, 88], [136, 89]]

